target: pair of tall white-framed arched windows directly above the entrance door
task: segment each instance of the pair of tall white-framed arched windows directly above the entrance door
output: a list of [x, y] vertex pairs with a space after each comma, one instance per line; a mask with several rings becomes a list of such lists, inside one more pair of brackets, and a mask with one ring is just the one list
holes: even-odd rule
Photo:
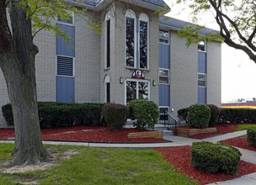
[[136, 18], [136, 13], [131, 9], [126, 10], [125, 17], [126, 66], [148, 69], [149, 18], [146, 13]]

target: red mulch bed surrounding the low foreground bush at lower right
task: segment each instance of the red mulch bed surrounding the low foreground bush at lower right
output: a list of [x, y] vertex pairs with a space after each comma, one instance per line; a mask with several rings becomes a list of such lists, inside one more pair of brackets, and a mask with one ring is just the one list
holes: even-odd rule
[[179, 147], [167, 147], [167, 148], [156, 148], [155, 151], [160, 152], [164, 159], [169, 163], [172, 163], [175, 168], [179, 169], [180, 172], [185, 173], [190, 178], [196, 179], [200, 184], [227, 181], [233, 178], [241, 177], [249, 173], [256, 172], [256, 165], [240, 161], [236, 175], [228, 175], [227, 173], [212, 173], [202, 172], [199, 169], [191, 166], [191, 146], [179, 146]]

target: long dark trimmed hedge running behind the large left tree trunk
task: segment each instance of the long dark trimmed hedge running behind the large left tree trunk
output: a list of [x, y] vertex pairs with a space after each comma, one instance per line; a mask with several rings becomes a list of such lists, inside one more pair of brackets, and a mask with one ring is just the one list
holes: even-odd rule
[[[56, 103], [38, 102], [40, 127], [56, 128], [72, 125], [103, 125], [104, 103]], [[3, 105], [3, 116], [8, 125], [13, 125], [10, 103]]]

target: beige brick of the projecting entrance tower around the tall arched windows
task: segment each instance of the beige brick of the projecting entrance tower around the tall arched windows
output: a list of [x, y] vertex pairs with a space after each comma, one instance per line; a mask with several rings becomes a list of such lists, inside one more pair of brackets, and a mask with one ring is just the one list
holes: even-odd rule
[[[147, 9], [132, 6], [132, 10], [137, 14], [147, 13], [149, 21], [149, 69], [142, 70], [146, 79], [150, 83], [150, 99], [158, 103], [158, 86], [152, 86], [152, 80], [158, 82], [158, 17]], [[110, 48], [110, 68], [104, 70], [104, 49], [101, 49], [100, 82], [101, 93], [100, 100], [104, 101], [104, 77], [110, 77], [110, 101], [115, 103], [125, 103], [125, 82], [120, 84], [120, 77], [131, 79], [132, 72], [136, 69], [125, 66], [125, 4], [119, 3], [115, 6], [115, 13], [118, 15], [110, 19], [111, 24], [111, 48]], [[102, 17], [104, 19], [104, 15]], [[104, 29], [104, 25], [102, 26]], [[104, 45], [104, 30], [101, 34], [101, 45]]]

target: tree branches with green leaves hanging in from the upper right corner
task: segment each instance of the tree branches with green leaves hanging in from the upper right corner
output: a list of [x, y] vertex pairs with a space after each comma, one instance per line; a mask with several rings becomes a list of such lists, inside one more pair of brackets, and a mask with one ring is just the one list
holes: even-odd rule
[[[189, 4], [192, 19], [198, 20], [205, 11], [213, 13], [220, 28], [216, 33], [198, 37], [199, 40], [224, 40], [237, 49], [243, 50], [256, 63], [256, 0], [173, 0], [175, 3]], [[179, 31], [179, 36], [187, 38], [187, 45], [197, 43], [195, 34], [203, 27], [188, 27]]]

